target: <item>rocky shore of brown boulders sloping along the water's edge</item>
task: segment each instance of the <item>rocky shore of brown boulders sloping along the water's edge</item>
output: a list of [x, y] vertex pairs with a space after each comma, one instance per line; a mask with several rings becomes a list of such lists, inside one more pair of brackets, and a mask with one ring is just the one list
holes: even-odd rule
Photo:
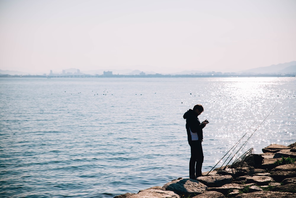
[[262, 151], [262, 154], [250, 154], [235, 165], [202, 173], [197, 180], [178, 178], [164, 186], [114, 198], [295, 198], [296, 143], [271, 144]]

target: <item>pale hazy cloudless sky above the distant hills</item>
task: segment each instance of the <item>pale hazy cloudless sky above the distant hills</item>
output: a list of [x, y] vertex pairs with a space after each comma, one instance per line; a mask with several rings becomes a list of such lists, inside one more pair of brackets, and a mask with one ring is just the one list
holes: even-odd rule
[[240, 71], [296, 60], [295, 0], [0, 0], [0, 69]]

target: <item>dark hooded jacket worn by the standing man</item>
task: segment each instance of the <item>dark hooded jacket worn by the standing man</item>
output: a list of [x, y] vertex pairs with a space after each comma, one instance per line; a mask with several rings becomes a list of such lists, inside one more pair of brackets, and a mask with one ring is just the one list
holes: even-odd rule
[[193, 139], [192, 137], [196, 135], [194, 133], [197, 133], [198, 140], [202, 140], [202, 129], [205, 127], [205, 125], [200, 123], [200, 120], [197, 117], [197, 113], [195, 113], [192, 109], [189, 109], [187, 112], [185, 112], [183, 118], [186, 119], [188, 141], [191, 141]]

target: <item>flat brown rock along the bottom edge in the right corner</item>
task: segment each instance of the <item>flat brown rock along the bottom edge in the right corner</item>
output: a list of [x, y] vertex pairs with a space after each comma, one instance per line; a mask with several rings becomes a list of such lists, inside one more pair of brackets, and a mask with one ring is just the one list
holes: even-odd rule
[[295, 196], [295, 193], [290, 192], [258, 191], [239, 194], [235, 198], [295, 198]]

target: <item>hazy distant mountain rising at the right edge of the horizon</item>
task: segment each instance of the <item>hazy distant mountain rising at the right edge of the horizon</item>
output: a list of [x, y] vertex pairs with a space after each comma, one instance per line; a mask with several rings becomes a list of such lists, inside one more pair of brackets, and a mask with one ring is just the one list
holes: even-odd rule
[[258, 67], [241, 71], [240, 73], [247, 74], [291, 74], [296, 73], [296, 61], [289, 63], [280, 63], [277, 65], [271, 65], [267, 67]]

